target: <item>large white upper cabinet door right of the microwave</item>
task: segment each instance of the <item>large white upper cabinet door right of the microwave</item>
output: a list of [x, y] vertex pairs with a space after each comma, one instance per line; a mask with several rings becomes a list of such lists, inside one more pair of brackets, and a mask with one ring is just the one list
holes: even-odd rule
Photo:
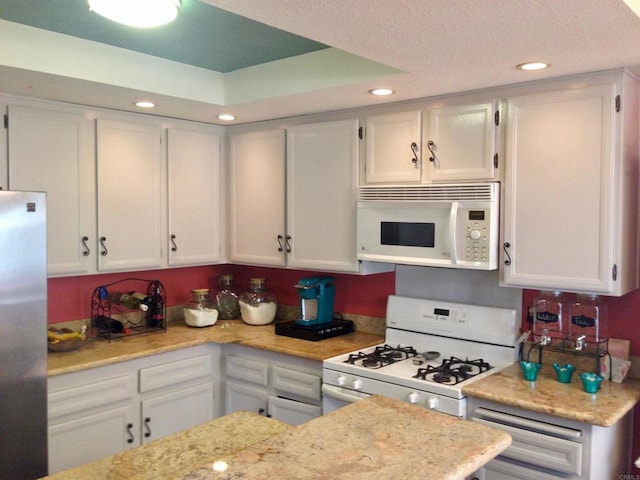
[[613, 290], [614, 90], [509, 99], [504, 285]]

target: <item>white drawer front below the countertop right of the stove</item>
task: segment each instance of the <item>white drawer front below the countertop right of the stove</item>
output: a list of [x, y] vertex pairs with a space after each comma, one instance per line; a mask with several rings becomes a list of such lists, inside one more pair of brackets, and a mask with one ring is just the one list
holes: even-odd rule
[[544, 465], [558, 472], [582, 474], [581, 443], [479, 418], [473, 418], [473, 421], [504, 430], [511, 435], [511, 446], [500, 454], [502, 457], [533, 465]]

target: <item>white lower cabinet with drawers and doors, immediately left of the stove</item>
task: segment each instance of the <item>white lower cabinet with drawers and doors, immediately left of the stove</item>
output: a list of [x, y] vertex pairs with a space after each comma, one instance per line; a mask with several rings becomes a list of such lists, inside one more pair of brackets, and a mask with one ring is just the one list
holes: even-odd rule
[[238, 345], [224, 356], [225, 413], [248, 410], [291, 425], [322, 415], [322, 363]]

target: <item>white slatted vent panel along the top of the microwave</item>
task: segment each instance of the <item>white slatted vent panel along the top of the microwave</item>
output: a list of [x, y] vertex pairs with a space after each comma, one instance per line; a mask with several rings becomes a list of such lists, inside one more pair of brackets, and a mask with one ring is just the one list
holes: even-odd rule
[[455, 202], [494, 200], [498, 183], [361, 186], [361, 202]]

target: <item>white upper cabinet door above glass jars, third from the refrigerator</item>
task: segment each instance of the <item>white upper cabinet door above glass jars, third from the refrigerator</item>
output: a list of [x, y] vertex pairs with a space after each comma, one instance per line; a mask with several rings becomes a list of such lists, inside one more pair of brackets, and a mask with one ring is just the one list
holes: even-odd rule
[[169, 265], [220, 260], [220, 139], [169, 129]]

